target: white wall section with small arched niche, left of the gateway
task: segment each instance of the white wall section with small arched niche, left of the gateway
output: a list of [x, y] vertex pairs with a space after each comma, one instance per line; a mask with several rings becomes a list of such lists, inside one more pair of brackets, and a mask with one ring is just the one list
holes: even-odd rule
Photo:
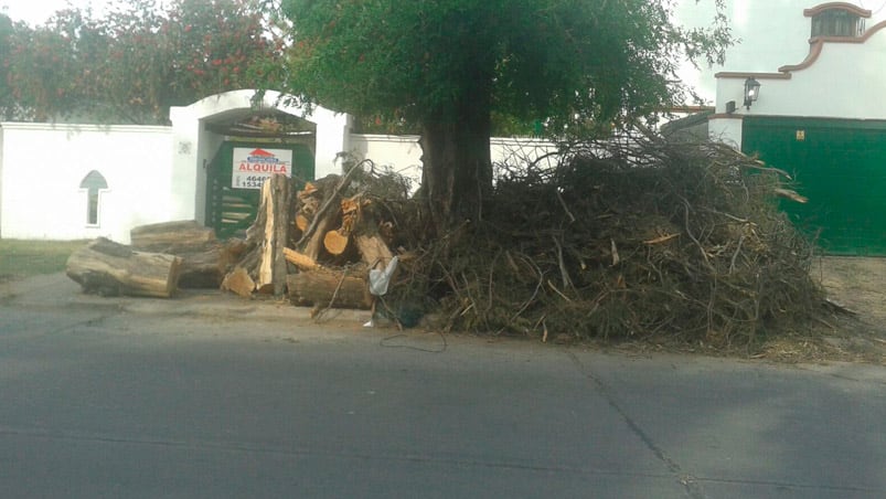
[[[0, 124], [0, 237], [129, 242], [137, 225], [170, 220], [172, 134], [167, 127]], [[93, 170], [105, 178], [88, 225]]]

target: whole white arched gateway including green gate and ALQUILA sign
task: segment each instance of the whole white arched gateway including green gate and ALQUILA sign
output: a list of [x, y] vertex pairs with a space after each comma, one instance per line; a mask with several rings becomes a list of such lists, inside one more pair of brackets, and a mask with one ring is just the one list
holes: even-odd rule
[[263, 176], [341, 172], [337, 159], [350, 147], [350, 116], [319, 106], [308, 114], [280, 97], [268, 92], [257, 99], [255, 91], [234, 91], [170, 109], [172, 219], [194, 219], [229, 235], [248, 223], [248, 209], [236, 206], [257, 199]]

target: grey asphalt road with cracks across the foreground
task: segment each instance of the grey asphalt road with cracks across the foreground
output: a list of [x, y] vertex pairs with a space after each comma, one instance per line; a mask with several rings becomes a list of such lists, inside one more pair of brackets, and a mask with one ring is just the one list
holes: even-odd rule
[[884, 498], [886, 370], [0, 288], [2, 498]]

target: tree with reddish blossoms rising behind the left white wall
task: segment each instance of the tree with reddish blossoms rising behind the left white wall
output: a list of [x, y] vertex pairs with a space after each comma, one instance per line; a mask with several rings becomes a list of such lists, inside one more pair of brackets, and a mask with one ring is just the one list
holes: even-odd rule
[[29, 119], [167, 123], [170, 106], [267, 83], [284, 43], [265, 3], [120, 1], [102, 18], [70, 8], [43, 26], [17, 25], [7, 44], [0, 19], [4, 81]]

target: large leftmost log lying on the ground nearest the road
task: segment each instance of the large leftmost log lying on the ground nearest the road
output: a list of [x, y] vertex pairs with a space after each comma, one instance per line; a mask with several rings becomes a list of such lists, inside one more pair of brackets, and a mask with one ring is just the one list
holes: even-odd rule
[[181, 263], [174, 255], [137, 252], [99, 237], [71, 255], [66, 274], [85, 293], [169, 298], [178, 288]]

